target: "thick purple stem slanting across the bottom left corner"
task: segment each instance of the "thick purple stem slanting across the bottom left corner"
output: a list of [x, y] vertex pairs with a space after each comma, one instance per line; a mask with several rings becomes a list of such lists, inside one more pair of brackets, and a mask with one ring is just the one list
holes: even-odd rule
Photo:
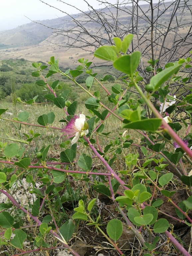
[[[21, 209], [23, 212], [25, 212], [26, 215], [28, 215], [30, 218], [32, 218], [35, 222], [37, 222], [39, 225], [42, 224], [42, 222], [35, 216], [33, 216], [29, 211], [27, 211], [25, 208], [23, 208], [16, 200], [14, 200], [10, 194], [8, 194], [6, 191], [4, 191], [3, 189], [0, 189], [0, 192], [3, 193], [4, 195], [6, 195], [9, 200], [19, 209]], [[52, 229], [49, 231], [53, 236], [59, 238], [60, 240], [62, 240], [62, 238]], [[59, 240], [59, 241], [60, 241]], [[60, 243], [62, 243], [60, 241]], [[67, 248], [74, 256], [80, 256], [76, 251], [74, 251], [69, 245], [65, 244], [64, 242], [62, 243], [63, 246], [65, 248]]]

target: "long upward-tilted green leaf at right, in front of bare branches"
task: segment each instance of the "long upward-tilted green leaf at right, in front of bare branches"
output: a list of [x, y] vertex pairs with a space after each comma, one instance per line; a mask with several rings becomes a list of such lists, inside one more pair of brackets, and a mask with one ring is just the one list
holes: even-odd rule
[[159, 72], [151, 78], [150, 85], [152, 85], [154, 90], [157, 90], [165, 81], [167, 81], [170, 78], [170, 76], [175, 74], [175, 72], [177, 72], [181, 66], [182, 64], [178, 66], [169, 67]]

